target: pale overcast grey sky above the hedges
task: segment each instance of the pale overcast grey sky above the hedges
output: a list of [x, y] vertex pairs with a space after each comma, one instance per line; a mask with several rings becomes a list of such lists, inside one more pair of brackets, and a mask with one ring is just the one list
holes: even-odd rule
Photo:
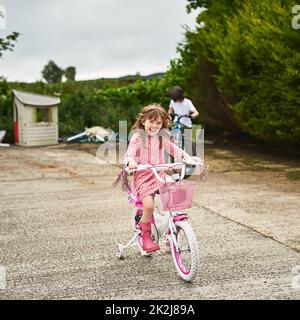
[[0, 59], [9, 81], [36, 81], [54, 60], [75, 66], [76, 79], [165, 71], [177, 57], [183, 25], [195, 28], [197, 12], [186, 0], [0, 0], [6, 29], [21, 32], [14, 52]]

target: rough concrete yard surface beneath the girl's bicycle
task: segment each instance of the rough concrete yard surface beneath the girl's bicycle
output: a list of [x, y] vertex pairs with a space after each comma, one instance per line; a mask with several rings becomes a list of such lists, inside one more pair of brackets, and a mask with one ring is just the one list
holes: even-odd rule
[[[132, 214], [95, 149], [0, 149], [0, 299], [299, 299], [300, 161], [209, 146], [209, 177], [190, 221], [200, 248], [193, 283], [162, 245], [136, 247]], [[2, 280], [1, 280], [2, 275]], [[5, 275], [5, 277], [4, 277]]]

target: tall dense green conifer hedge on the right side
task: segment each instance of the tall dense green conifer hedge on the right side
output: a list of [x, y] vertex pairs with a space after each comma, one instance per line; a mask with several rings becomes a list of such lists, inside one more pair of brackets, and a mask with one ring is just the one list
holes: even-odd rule
[[[235, 128], [270, 144], [300, 142], [300, 32], [291, 4], [188, 0], [205, 27], [178, 48], [184, 85], [204, 124]], [[228, 125], [229, 124], [229, 125]]]

